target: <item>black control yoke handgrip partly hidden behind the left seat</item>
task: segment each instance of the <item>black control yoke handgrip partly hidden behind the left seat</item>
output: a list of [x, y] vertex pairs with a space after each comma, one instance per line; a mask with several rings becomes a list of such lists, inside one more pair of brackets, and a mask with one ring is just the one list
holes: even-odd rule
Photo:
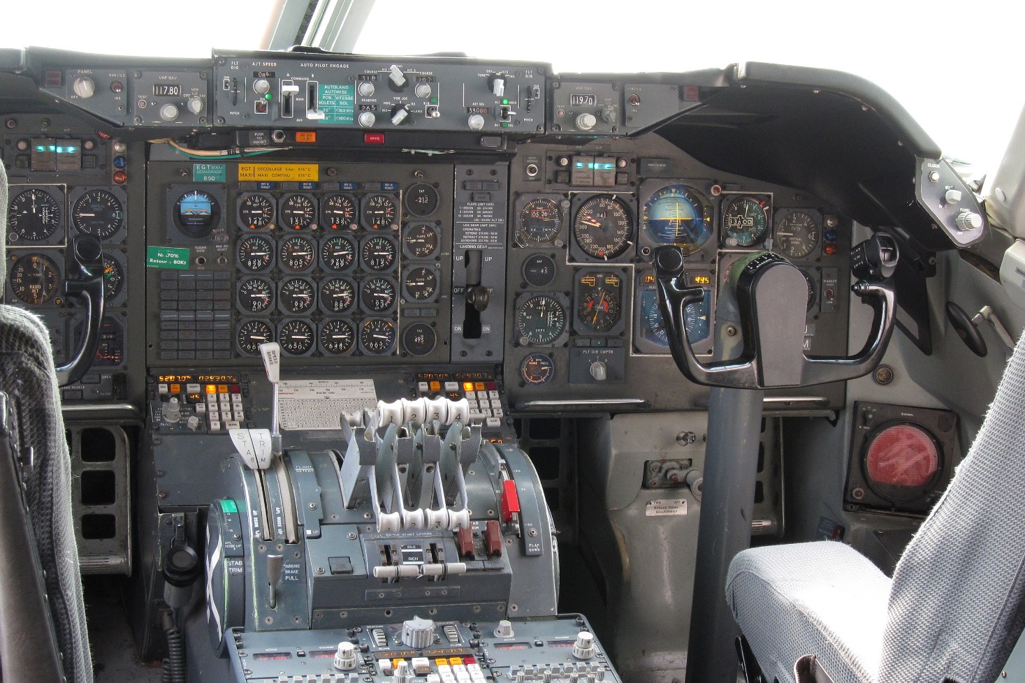
[[56, 368], [57, 385], [67, 386], [89, 372], [104, 324], [104, 252], [99, 240], [78, 234], [68, 250], [65, 294], [85, 304], [85, 338], [72, 359]]

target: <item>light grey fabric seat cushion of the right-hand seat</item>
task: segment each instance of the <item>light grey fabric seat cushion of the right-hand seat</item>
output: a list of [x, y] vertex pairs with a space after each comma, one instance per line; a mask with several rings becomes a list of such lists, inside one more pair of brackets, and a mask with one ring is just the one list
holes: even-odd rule
[[857, 551], [821, 541], [738, 554], [726, 599], [770, 683], [790, 683], [806, 654], [834, 683], [868, 683], [878, 671], [890, 584]]

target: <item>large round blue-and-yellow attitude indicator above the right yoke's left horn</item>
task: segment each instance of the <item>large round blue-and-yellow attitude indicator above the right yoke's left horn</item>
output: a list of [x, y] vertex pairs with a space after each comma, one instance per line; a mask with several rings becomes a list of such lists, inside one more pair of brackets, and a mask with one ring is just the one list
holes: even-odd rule
[[658, 245], [675, 245], [685, 254], [701, 248], [712, 232], [711, 204], [687, 185], [669, 185], [651, 196], [641, 210], [646, 233]]

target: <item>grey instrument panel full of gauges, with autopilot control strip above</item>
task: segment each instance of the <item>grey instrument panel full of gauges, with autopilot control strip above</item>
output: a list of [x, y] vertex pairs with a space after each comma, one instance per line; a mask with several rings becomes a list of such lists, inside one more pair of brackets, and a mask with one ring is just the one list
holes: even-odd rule
[[[490, 364], [506, 378], [511, 408], [525, 412], [588, 410], [593, 397], [610, 401], [609, 410], [701, 407], [706, 389], [664, 382], [676, 370], [651, 266], [663, 245], [686, 253], [691, 284], [706, 291], [686, 311], [699, 354], [712, 352], [730, 265], [761, 249], [783, 254], [806, 275], [806, 352], [846, 352], [851, 223], [814, 197], [722, 173], [655, 133], [573, 144], [558, 136], [466, 138], [479, 147], [430, 154], [382, 146], [378, 133], [330, 136], [332, 126], [359, 128], [369, 120], [361, 113], [381, 123], [384, 103], [414, 100], [406, 117], [388, 111], [402, 121], [384, 124], [403, 135], [420, 126], [404, 140], [434, 139], [421, 118], [466, 129], [449, 116], [455, 112], [484, 117], [479, 130], [515, 135], [527, 130], [527, 100], [544, 119], [549, 93], [534, 89], [543, 69], [483, 65], [464, 74], [441, 62], [356, 60], [328, 77], [324, 65], [291, 56], [261, 68], [218, 59], [215, 87], [205, 94], [173, 70], [121, 81], [116, 69], [65, 69], [63, 85], [44, 89], [102, 116], [132, 102], [147, 110], [135, 121], [140, 129], [190, 117], [209, 123], [211, 106], [236, 112], [221, 125], [236, 126], [232, 137], [249, 145], [244, 158], [147, 141], [139, 131], [122, 140], [65, 115], [25, 115], [8, 125], [7, 300], [40, 313], [58, 362], [74, 350], [84, 312], [61, 296], [64, 250], [80, 233], [105, 250], [99, 386], [66, 389], [66, 400], [137, 398], [145, 369], [157, 366], [258, 366], [259, 345], [277, 341], [286, 364], [299, 368]], [[393, 67], [406, 85], [396, 83]], [[482, 89], [461, 112], [445, 85], [453, 75], [466, 93]], [[86, 78], [111, 87], [82, 97], [76, 84]], [[128, 84], [127, 98], [115, 83]], [[634, 99], [668, 112], [662, 86], [627, 89], [634, 122], [642, 110], [655, 111]], [[600, 91], [573, 84], [551, 100], [549, 116], [573, 116], [563, 130], [580, 131], [587, 110], [593, 130], [615, 132], [609, 118], [626, 104]], [[337, 114], [350, 94], [352, 122]], [[442, 114], [427, 117], [434, 97]], [[265, 120], [284, 128], [256, 127], [260, 102]], [[160, 116], [169, 103], [173, 121]], [[500, 125], [505, 106], [519, 112], [508, 126]], [[334, 114], [318, 118], [318, 111]], [[271, 154], [274, 143], [288, 148]], [[842, 404], [842, 387], [822, 393], [827, 404]]]

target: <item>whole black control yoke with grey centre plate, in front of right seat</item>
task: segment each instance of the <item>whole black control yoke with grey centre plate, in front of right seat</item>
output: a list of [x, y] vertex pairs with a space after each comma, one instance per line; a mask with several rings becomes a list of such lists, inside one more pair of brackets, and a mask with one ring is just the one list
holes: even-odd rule
[[738, 389], [812, 386], [867, 375], [883, 358], [893, 334], [896, 311], [888, 280], [897, 265], [897, 243], [879, 232], [855, 247], [851, 258], [859, 278], [851, 291], [874, 311], [868, 341], [856, 355], [805, 355], [805, 276], [782, 256], [762, 251], [737, 261], [727, 280], [736, 295], [743, 333], [740, 356], [703, 364], [687, 339], [684, 311], [700, 302], [704, 291], [687, 286], [679, 247], [659, 248], [655, 253], [658, 305], [676, 367], [692, 382]]

